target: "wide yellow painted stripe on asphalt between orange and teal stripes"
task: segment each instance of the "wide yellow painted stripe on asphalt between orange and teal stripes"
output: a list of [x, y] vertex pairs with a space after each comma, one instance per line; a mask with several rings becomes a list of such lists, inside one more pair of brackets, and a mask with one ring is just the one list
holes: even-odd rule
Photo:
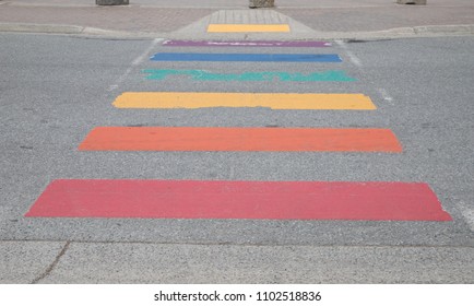
[[126, 92], [118, 108], [269, 107], [272, 109], [376, 109], [363, 94]]

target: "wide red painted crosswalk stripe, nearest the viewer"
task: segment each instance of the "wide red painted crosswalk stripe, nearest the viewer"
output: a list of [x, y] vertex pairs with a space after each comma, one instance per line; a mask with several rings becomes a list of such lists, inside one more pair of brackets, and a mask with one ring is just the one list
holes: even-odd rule
[[26, 216], [450, 221], [419, 183], [52, 181]]

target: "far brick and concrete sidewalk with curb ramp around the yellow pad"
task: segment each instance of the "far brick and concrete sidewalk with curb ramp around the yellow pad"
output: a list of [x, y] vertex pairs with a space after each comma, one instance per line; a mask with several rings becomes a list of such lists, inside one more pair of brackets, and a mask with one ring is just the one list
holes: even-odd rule
[[[97, 7], [94, 0], [0, 0], [0, 31], [118, 38], [396, 38], [474, 34], [474, 1], [277, 0], [248, 9], [248, 0], [131, 0]], [[210, 23], [288, 23], [291, 33], [209, 34]]]

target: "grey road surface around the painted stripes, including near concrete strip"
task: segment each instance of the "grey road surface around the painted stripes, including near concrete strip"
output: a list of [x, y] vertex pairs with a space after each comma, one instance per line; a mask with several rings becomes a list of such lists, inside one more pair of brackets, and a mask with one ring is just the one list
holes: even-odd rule
[[[165, 50], [253, 51], [170, 48], [159, 39], [1, 34], [0, 45], [1, 283], [474, 281], [473, 37], [334, 42], [316, 50], [340, 54], [335, 66], [151, 62]], [[341, 69], [358, 81], [152, 81], [141, 72], [149, 68]], [[378, 109], [114, 108], [125, 91], [354, 92]], [[395, 132], [404, 152], [79, 152], [96, 126], [380, 127]], [[425, 181], [454, 221], [24, 217], [57, 178]]]

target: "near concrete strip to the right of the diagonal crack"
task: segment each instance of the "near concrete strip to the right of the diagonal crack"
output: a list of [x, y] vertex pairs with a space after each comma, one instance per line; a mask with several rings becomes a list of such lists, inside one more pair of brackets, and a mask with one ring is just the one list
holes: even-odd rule
[[[110, 260], [119, 256], [128, 259], [127, 267]], [[213, 264], [203, 264], [210, 258]], [[37, 282], [469, 283], [465, 269], [474, 268], [473, 259], [463, 248], [75, 243]]]

